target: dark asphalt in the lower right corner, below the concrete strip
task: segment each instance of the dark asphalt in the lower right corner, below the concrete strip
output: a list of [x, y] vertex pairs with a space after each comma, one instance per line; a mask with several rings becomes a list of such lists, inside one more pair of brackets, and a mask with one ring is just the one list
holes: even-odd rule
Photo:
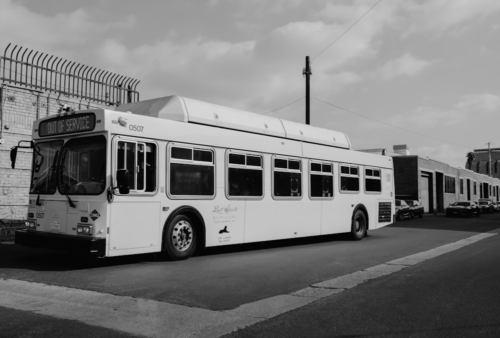
[[500, 337], [500, 237], [224, 337]]

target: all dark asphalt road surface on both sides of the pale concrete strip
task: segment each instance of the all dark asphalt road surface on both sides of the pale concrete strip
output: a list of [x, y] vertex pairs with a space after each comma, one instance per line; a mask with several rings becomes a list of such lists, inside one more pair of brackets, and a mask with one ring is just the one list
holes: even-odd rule
[[[184, 262], [163, 261], [154, 255], [86, 260], [56, 251], [0, 245], [0, 277], [220, 313], [500, 228], [500, 213], [470, 219], [425, 216], [370, 231], [359, 242], [336, 235], [233, 246], [209, 249]], [[481, 333], [484, 335], [479, 336], [492, 337], [499, 332], [500, 318], [496, 306], [500, 276], [493, 268], [500, 260], [497, 237], [367, 281], [231, 335], [457, 337], [460, 333], [472, 337]], [[1, 318], [9, 320], [0, 323], [0, 337], [5, 333], [5, 337], [133, 337], [1, 305], [0, 299]], [[36, 329], [33, 333], [26, 328]]]

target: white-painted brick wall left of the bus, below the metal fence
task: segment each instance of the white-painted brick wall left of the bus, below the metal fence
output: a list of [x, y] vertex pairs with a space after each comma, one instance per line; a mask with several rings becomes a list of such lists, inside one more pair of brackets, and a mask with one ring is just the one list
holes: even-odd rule
[[29, 197], [31, 149], [19, 148], [15, 169], [11, 169], [10, 148], [21, 140], [29, 141], [33, 121], [58, 113], [64, 104], [75, 110], [104, 107], [96, 102], [0, 83], [0, 138], [3, 140], [0, 144], [0, 241], [12, 240], [15, 230], [24, 226]]

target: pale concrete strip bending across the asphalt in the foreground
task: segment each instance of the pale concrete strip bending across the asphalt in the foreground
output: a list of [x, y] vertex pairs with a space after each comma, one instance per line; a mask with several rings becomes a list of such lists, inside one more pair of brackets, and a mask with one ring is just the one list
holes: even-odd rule
[[477, 234], [226, 311], [6, 278], [0, 278], [0, 306], [146, 337], [219, 337], [493, 235], [497, 233]]

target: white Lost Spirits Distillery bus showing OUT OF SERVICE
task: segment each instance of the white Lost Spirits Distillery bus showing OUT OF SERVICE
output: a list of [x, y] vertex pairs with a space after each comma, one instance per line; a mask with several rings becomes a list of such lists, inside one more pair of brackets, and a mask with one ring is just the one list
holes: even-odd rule
[[340, 132], [184, 97], [68, 109], [34, 122], [31, 147], [23, 245], [181, 260], [220, 245], [360, 240], [394, 220], [390, 157], [351, 150]]

